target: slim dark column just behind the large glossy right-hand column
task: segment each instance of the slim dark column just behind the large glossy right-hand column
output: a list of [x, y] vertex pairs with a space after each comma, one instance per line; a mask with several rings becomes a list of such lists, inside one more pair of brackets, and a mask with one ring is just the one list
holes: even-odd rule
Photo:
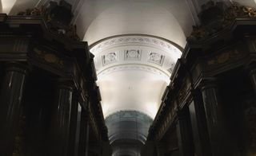
[[206, 123], [206, 114], [200, 92], [192, 91], [190, 102], [190, 120], [193, 131], [194, 150], [197, 156], [210, 156], [210, 142]]

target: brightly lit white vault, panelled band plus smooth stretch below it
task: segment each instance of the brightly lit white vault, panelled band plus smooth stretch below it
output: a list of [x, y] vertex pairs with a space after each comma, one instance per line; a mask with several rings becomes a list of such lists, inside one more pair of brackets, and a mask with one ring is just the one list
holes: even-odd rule
[[170, 42], [139, 35], [111, 37], [90, 51], [104, 116], [135, 110], [154, 119], [181, 51]]

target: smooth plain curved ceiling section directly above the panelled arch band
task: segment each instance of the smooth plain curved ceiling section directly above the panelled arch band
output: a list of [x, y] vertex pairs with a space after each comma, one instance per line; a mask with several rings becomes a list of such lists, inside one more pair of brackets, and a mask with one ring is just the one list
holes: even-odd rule
[[[191, 21], [191, 20], [190, 20]], [[185, 33], [173, 14], [150, 1], [119, 1], [90, 23], [84, 37], [89, 44], [122, 34], [148, 34], [163, 37], [184, 47]]]

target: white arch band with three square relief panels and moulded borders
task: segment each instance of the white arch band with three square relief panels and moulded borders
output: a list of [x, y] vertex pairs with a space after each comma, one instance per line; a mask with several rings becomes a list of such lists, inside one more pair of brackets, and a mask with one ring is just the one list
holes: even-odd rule
[[[126, 35], [106, 39], [90, 49], [98, 76], [123, 70], [143, 70], [169, 79], [182, 52], [156, 37]], [[136, 65], [131, 65], [136, 64]]]

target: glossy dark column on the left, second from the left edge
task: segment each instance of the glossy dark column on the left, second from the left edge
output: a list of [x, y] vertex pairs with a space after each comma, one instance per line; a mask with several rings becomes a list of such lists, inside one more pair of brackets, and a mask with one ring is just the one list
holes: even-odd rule
[[54, 103], [50, 131], [52, 140], [51, 156], [66, 156], [68, 153], [72, 94], [72, 84], [70, 82], [60, 82], [57, 100]]

